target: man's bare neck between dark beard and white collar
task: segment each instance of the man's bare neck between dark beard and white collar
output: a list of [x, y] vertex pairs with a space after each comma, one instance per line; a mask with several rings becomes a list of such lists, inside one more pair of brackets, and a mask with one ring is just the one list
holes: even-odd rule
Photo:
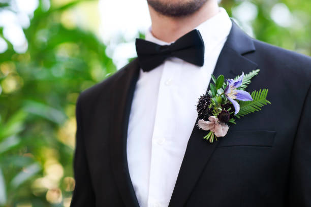
[[216, 0], [207, 1], [198, 11], [185, 17], [168, 17], [149, 7], [152, 35], [164, 42], [174, 42], [219, 12]]

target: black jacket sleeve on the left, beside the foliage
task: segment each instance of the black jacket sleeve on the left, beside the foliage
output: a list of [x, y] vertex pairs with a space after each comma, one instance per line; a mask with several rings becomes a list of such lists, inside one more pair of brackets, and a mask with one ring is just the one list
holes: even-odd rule
[[95, 206], [95, 194], [91, 185], [90, 173], [85, 153], [80, 97], [76, 105], [77, 132], [76, 132], [76, 150], [74, 156], [74, 177], [76, 184], [70, 206], [91, 207]]

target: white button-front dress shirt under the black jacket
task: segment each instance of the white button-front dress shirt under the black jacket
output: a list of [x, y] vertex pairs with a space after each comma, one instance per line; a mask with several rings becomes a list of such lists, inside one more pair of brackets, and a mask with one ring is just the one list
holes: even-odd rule
[[[196, 29], [204, 41], [204, 65], [167, 58], [150, 72], [140, 70], [127, 138], [130, 177], [141, 207], [168, 206], [197, 119], [196, 103], [205, 94], [232, 23], [225, 11]], [[154, 38], [150, 29], [145, 40]], [[191, 170], [191, 169], [189, 169]]]

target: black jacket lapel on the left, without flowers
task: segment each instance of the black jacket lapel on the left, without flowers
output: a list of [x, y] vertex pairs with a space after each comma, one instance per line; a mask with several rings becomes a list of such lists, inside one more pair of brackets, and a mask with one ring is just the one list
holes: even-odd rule
[[139, 206], [127, 161], [127, 132], [139, 64], [134, 59], [114, 82], [110, 101], [109, 153], [115, 182], [126, 206]]

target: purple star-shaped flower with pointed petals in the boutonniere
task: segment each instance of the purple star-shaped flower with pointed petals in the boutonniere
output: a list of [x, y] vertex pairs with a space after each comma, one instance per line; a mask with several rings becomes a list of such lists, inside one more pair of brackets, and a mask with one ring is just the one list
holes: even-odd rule
[[250, 93], [242, 90], [237, 90], [237, 88], [242, 85], [243, 77], [244, 73], [242, 72], [242, 75], [236, 81], [233, 79], [228, 79], [228, 86], [226, 87], [224, 92], [228, 100], [233, 104], [233, 107], [235, 109], [234, 115], [236, 115], [240, 111], [240, 105], [234, 99], [243, 101], [253, 100]]

